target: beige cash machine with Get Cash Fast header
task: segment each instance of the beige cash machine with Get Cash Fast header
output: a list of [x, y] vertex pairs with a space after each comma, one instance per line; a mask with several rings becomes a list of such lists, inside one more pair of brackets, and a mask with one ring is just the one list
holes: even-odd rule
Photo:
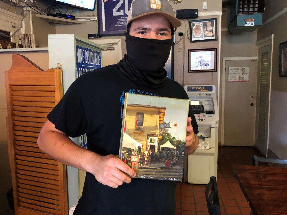
[[199, 133], [199, 145], [188, 156], [187, 182], [207, 184], [210, 176], [217, 176], [218, 109], [214, 85], [186, 85]]

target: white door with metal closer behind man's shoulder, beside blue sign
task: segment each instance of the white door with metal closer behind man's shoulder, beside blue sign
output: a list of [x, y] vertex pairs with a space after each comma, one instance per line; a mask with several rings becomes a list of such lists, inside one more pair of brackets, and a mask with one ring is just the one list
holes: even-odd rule
[[90, 39], [90, 41], [110, 49], [103, 51], [102, 67], [117, 64], [122, 59], [121, 39]]

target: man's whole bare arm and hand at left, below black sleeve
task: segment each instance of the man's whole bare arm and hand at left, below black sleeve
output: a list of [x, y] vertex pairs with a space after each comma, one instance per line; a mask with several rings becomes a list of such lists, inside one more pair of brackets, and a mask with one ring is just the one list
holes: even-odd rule
[[136, 176], [129, 165], [115, 155], [100, 156], [74, 144], [68, 136], [47, 120], [38, 137], [39, 148], [55, 160], [92, 173], [98, 182], [117, 188], [123, 182], [131, 182]]

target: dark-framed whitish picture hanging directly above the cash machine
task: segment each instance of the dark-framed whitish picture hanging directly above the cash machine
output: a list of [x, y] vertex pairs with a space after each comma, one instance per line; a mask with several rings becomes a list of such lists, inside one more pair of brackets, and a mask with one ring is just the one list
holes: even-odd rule
[[217, 48], [188, 50], [188, 72], [216, 72]]

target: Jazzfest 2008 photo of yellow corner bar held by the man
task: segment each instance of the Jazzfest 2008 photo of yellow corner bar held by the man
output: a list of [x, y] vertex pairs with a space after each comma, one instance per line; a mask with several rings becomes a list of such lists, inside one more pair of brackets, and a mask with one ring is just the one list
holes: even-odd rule
[[182, 181], [189, 100], [125, 94], [119, 158], [136, 178]]

